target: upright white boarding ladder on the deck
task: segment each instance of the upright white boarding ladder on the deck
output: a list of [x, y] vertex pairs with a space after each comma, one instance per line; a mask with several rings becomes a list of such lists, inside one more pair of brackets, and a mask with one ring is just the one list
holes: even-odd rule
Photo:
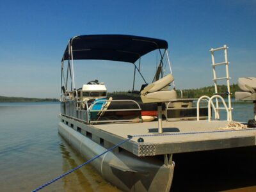
[[[232, 120], [232, 107], [231, 107], [231, 93], [230, 93], [230, 76], [229, 76], [229, 71], [228, 71], [228, 52], [227, 52], [227, 45], [223, 45], [223, 47], [219, 47], [216, 49], [211, 49], [211, 56], [212, 56], [212, 71], [213, 71], [213, 81], [214, 81], [214, 88], [215, 88], [215, 95], [212, 96], [212, 98], [209, 100], [209, 102], [211, 102], [212, 99], [216, 99], [216, 118], [220, 119], [220, 114], [219, 114], [219, 110], [220, 109], [225, 109], [227, 111], [227, 120]], [[215, 63], [215, 58], [214, 58], [214, 52], [216, 51], [224, 51], [224, 57], [225, 57], [225, 61], [221, 62], [221, 63]], [[220, 65], [225, 65], [226, 66], [226, 77], [217, 77], [216, 76], [216, 70], [215, 68], [217, 66]], [[218, 102], [218, 98], [221, 99], [222, 101], [223, 98], [220, 96], [220, 93], [218, 93], [218, 85], [217, 85], [217, 81], [219, 80], [223, 80], [226, 79], [227, 80], [227, 95], [228, 95], [228, 108], [225, 104], [225, 102], [223, 102], [223, 105], [225, 106], [224, 108], [220, 108], [219, 107], [219, 102]], [[211, 105], [208, 105], [211, 108]], [[210, 117], [211, 118], [211, 117]], [[211, 121], [211, 119], [209, 120]]]

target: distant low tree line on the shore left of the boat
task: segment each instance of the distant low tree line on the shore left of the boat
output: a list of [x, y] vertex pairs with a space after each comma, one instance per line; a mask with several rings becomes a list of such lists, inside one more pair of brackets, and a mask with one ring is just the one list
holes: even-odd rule
[[0, 102], [58, 102], [59, 99], [39, 99], [39, 98], [26, 98], [26, 97], [4, 97], [0, 96]]

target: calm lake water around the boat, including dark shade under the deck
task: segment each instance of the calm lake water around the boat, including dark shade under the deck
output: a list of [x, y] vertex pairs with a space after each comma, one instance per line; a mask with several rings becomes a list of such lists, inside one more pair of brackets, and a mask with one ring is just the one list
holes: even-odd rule
[[[253, 118], [252, 104], [233, 107], [234, 120]], [[59, 136], [58, 113], [58, 103], [0, 104], [0, 191], [31, 191], [86, 161]], [[255, 154], [255, 148], [240, 148], [173, 156], [172, 189], [256, 191]], [[89, 164], [42, 191], [118, 189]]]

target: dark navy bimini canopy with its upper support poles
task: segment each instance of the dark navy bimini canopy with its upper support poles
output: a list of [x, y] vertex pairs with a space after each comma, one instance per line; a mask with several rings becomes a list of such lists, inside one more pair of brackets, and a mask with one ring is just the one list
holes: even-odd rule
[[[168, 43], [165, 40], [156, 38], [147, 38], [143, 36], [132, 35], [81, 35], [74, 36], [68, 41], [67, 48], [63, 54], [61, 62], [61, 87], [62, 79], [65, 81], [65, 88], [67, 88], [68, 74], [71, 79], [71, 90], [75, 88], [74, 83], [74, 65], [73, 60], [111, 60], [111, 61], [124, 61], [128, 63], [135, 63], [141, 58], [141, 56], [148, 52], [159, 49], [161, 55], [160, 67], [163, 67], [163, 57], [168, 53], [166, 49]], [[164, 49], [164, 53], [160, 51]], [[63, 74], [63, 63], [68, 61], [67, 79]], [[170, 66], [170, 60], [168, 58]], [[134, 76], [135, 71], [141, 75], [140, 63], [137, 67], [134, 64]], [[172, 69], [170, 68], [172, 71]], [[163, 74], [162, 74], [163, 76]], [[143, 78], [143, 76], [141, 75]], [[155, 77], [156, 78], [156, 77]], [[145, 79], [143, 78], [145, 81]], [[157, 79], [154, 79], [156, 81]], [[145, 81], [145, 83], [147, 83]]]

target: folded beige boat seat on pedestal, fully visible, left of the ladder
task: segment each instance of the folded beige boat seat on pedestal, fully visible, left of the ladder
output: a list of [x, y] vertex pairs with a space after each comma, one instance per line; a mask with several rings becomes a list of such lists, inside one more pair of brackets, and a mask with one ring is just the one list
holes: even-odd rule
[[140, 93], [143, 103], [157, 103], [158, 114], [158, 132], [163, 133], [162, 128], [162, 103], [177, 99], [175, 90], [168, 90], [169, 84], [173, 81], [172, 74], [159, 79], [158, 81], [148, 84]]

